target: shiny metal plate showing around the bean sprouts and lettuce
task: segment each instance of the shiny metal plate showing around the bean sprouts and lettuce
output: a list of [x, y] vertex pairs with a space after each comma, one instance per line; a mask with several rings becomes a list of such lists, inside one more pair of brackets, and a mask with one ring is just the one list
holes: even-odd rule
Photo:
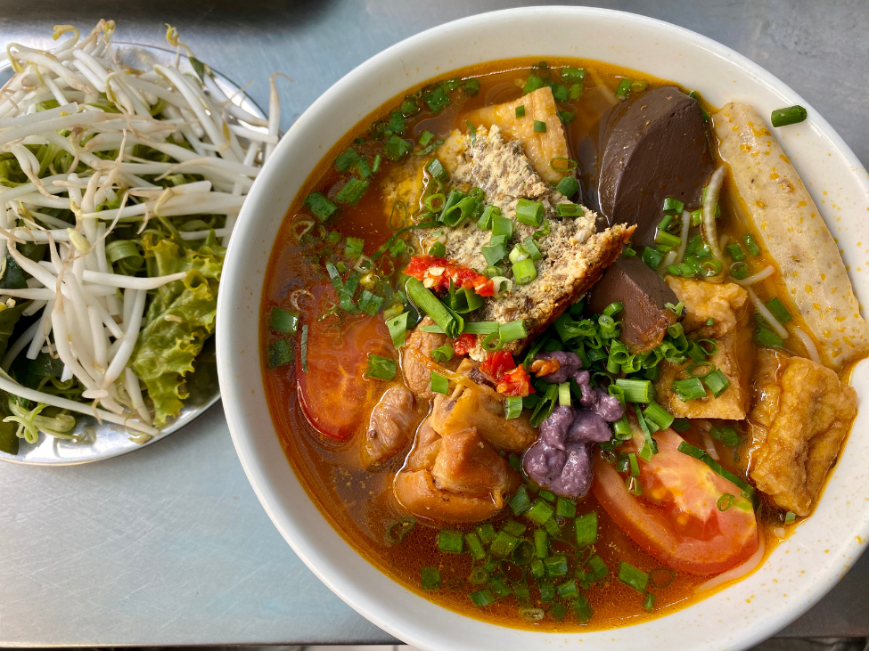
[[[175, 63], [177, 57], [182, 72], [194, 74], [193, 67], [187, 57], [183, 55], [179, 57], [174, 51], [134, 43], [114, 43], [113, 45], [113, 51], [123, 65], [136, 69], [147, 69], [155, 63], [164, 65]], [[212, 70], [212, 72], [214, 72], [217, 85], [227, 97], [234, 98], [237, 104], [254, 115], [265, 117], [263, 111], [242, 92], [239, 85], [234, 84], [217, 70]], [[6, 64], [0, 69], [0, 84], [4, 84], [10, 77], [12, 77], [12, 68]], [[185, 378], [190, 396], [184, 400], [184, 407], [178, 418], [163, 427], [159, 435], [152, 436], [144, 443], [137, 443], [135, 436], [131, 436], [125, 427], [112, 423], [100, 424], [93, 417], [77, 415], [76, 427], [72, 433], [79, 436], [78, 440], [56, 439], [48, 435], [40, 435], [37, 443], [27, 443], [21, 439], [18, 454], [0, 452], [0, 460], [30, 465], [70, 466], [111, 459], [160, 441], [193, 421], [220, 399], [213, 337], [209, 338], [202, 348], [202, 352], [196, 357], [194, 367], [193, 373]]]

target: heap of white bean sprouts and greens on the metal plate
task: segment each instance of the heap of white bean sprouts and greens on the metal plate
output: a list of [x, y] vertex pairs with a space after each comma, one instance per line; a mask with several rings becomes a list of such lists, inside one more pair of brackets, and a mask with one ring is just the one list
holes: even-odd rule
[[184, 375], [214, 329], [225, 246], [278, 142], [274, 76], [270, 118], [258, 118], [174, 28], [174, 64], [145, 70], [119, 62], [114, 28], [101, 20], [81, 38], [57, 26], [52, 50], [6, 48], [15, 75], [0, 89], [4, 452], [40, 433], [75, 438], [70, 412], [139, 441], [178, 415]]

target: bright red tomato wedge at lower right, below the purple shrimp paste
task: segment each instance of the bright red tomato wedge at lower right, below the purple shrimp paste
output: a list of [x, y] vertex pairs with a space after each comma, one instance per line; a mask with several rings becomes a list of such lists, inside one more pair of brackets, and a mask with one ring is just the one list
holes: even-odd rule
[[[705, 463], [679, 452], [683, 438], [672, 430], [659, 432], [655, 440], [658, 454], [648, 463], [640, 461], [642, 496], [628, 492], [616, 469], [595, 455], [592, 490], [603, 509], [640, 547], [674, 570], [718, 574], [747, 560], [758, 549], [750, 500]], [[728, 493], [733, 499], [719, 502]]]

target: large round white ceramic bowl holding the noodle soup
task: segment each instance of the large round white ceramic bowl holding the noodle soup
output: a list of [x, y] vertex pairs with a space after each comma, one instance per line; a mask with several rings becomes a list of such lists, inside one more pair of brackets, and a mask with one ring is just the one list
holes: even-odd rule
[[[217, 305], [217, 366], [226, 417], [259, 500], [292, 549], [360, 614], [425, 650], [537, 651], [744, 648], [766, 639], [824, 596], [869, 537], [869, 412], [861, 409], [816, 513], [761, 569], [698, 604], [611, 631], [537, 633], [482, 623], [418, 597], [370, 565], [336, 533], [299, 484], [269, 417], [259, 367], [263, 274], [275, 233], [299, 187], [332, 145], [406, 88], [481, 61], [517, 56], [609, 61], [695, 88], [713, 105], [753, 104], [761, 115], [802, 104], [808, 121], [776, 131], [839, 238], [857, 297], [869, 301], [869, 183], [845, 142], [787, 85], [724, 45], [659, 20], [601, 9], [539, 7], [442, 25], [390, 47], [333, 85], [293, 125], [242, 209]], [[852, 383], [865, 403], [869, 364]], [[327, 616], [324, 614], [324, 616]]]

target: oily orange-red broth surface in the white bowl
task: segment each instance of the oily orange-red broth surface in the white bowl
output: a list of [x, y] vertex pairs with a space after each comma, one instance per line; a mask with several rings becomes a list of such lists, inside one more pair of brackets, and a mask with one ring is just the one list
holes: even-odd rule
[[[601, 117], [607, 108], [603, 102], [594, 101], [594, 93], [591, 92], [594, 86], [606, 85], [611, 90], [615, 90], [624, 77], [644, 79], [652, 86], [662, 85], [665, 82], [636, 73], [633, 70], [619, 69], [596, 61], [551, 59], [548, 63], [553, 69], [561, 66], [586, 69], [583, 96], [578, 101], [566, 102], [571, 104], [570, 110], [577, 114], [577, 118], [566, 126], [565, 132], [571, 158], [577, 159], [579, 162], [578, 173], [583, 182], [584, 191], [594, 191], [598, 136]], [[449, 77], [479, 78], [480, 92], [471, 97], [460, 97], [459, 101], [454, 100], [446, 110], [437, 116], [423, 111], [422, 114], [409, 120], [409, 128], [406, 130], [405, 137], [412, 137], [415, 140], [425, 130], [442, 137], [452, 129], [462, 127], [464, 125], [463, 116], [467, 112], [488, 104], [509, 102], [520, 97], [521, 82], [528, 76], [529, 69], [535, 64], [537, 61], [498, 61], [455, 71]], [[415, 90], [417, 89], [414, 88], [411, 92]], [[459, 95], [456, 96], [459, 97]], [[394, 110], [402, 100], [403, 97], [398, 97], [388, 102], [380, 110], [374, 111], [371, 116], [362, 120], [352, 132], [347, 134], [309, 176], [305, 187], [299, 192], [299, 197], [295, 199], [288, 211], [281, 231], [275, 240], [275, 247], [272, 250], [266, 272], [260, 335], [263, 351], [265, 351], [267, 344], [275, 338], [275, 334], [268, 327], [268, 315], [271, 308], [275, 305], [289, 308], [289, 297], [298, 289], [312, 289], [328, 284], [328, 278], [324, 273], [324, 258], [313, 259], [309, 255], [311, 249], [306, 245], [305, 239], [303, 238], [300, 243], [296, 235], [300, 230], [298, 227], [299, 219], [308, 218], [302, 205], [304, 198], [307, 197], [309, 191], [313, 190], [327, 193], [335, 183], [339, 182], [340, 175], [332, 165], [335, 157], [340, 151], [344, 151], [354, 138], [360, 134], [365, 134], [373, 120], [382, 119], [384, 116], [388, 117], [389, 110]], [[383, 158], [381, 169], [375, 176], [372, 188], [367, 191], [357, 206], [342, 208], [340, 219], [329, 224], [331, 228], [339, 230], [343, 236], [365, 239], [365, 254], [368, 256], [371, 256], [376, 248], [388, 240], [393, 233], [389, 226], [388, 211], [383, 206], [385, 199], [376, 183], [377, 180], [388, 174], [391, 165], [388, 159]], [[748, 232], [744, 221], [726, 206], [725, 216], [721, 220], [721, 224], [724, 232], [730, 232], [736, 237], [741, 237], [742, 234]], [[764, 297], [783, 296], [773, 282], [767, 282], [758, 289], [761, 296]], [[299, 295], [297, 295], [298, 297]], [[305, 306], [305, 300], [304, 297], [299, 298], [301, 307]], [[328, 302], [328, 299], [324, 299], [324, 301]], [[376, 321], [376, 323], [370, 321]], [[345, 316], [341, 321], [338, 316], [331, 315], [321, 321], [321, 325], [323, 323], [340, 326], [340, 329], [335, 327], [330, 330], [336, 343], [340, 341], [342, 336], [340, 333], [348, 333], [361, 328], [365, 328], [369, 332], [377, 332], [376, 338], [389, 341], [388, 331], [380, 316], [375, 318]], [[802, 353], [802, 351], [795, 352]], [[299, 354], [298, 340], [296, 354]], [[294, 365], [284, 366], [277, 370], [266, 370], [264, 363], [263, 376], [269, 410], [287, 459], [324, 517], [354, 549], [357, 549], [381, 571], [410, 590], [422, 594], [425, 598], [429, 598], [441, 606], [487, 622], [515, 628], [538, 631], [555, 629], [559, 631], [578, 629], [587, 631], [618, 626], [628, 621], [631, 623], [643, 621], [686, 606], [701, 598], [695, 593], [695, 589], [711, 578], [709, 575], [676, 573], [673, 581], [662, 590], [656, 589], [650, 582], [650, 591], [656, 595], [656, 602], [652, 614], [647, 613], [643, 608], [643, 596], [617, 580], [619, 561], [625, 561], [646, 572], [662, 566], [659, 561], [639, 549], [634, 541], [622, 532], [607, 516], [606, 512], [600, 508], [594, 496], [589, 494], [585, 499], [579, 501], [577, 515], [597, 511], [598, 541], [594, 545], [594, 551], [602, 557], [610, 569], [605, 580], [594, 583], [586, 592], [586, 598], [594, 609], [594, 616], [589, 623], [583, 625], [575, 623], [572, 621], [570, 613], [561, 622], [556, 622], [551, 614], [547, 614], [542, 621], [537, 623], [526, 622], [520, 617], [519, 605], [513, 596], [497, 601], [485, 609], [473, 606], [468, 594], [473, 590], [478, 590], [480, 586], [472, 586], [467, 582], [473, 566], [471, 556], [467, 553], [455, 555], [440, 552], [437, 545], [439, 531], [437, 525], [427, 525], [418, 521], [413, 531], [408, 533], [403, 541], [393, 543], [388, 540], [389, 525], [407, 516], [406, 512], [398, 507], [391, 490], [392, 478], [401, 467], [404, 455], [398, 455], [386, 468], [377, 472], [366, 471], [362, 468], [360, 461], [360, 445], [365, 438], [367, 414], [377, 402], [386, 383], [376, 380], [366, 381], [365, 406], [360, 410], [364, 417], [358, 420], [355, 434], [346, 443], [338, 443], [334, 439], [328, 439], [318, 434], [299, 408]], [[699, 435], [693, 430], [688, 430], [683, 436], [689, 443], [702, 444]], [[716, 445], [723, 463], [735, 472], [732, 452], [719, 443]], [[509, 509], [505, 509], [501, 517], [493, 520], [496, 529], [508, 515], [512, 514], [510, 514]], [[761, 535], [767, 544], [768, 554], [783, 534], [781, 519], [779, 515], [774, 515], [771, 511], [767, 513], [767, 509], [761, 507], [758, 512], [758, 520], [761, 525]], [[464, 531], [472, 529], [470, 526], [451, 528]], [[564, 535], [570, 537], [571, 532], [565, 529]], [[442, 586], [440, 590], [422, 590], [420, 577], [422, 566], [439, 567]], [[658, 574], [658, 576], [659, 578], [665, 577], [666, 573]], [[530, 585], [533, 600], [535, 598], [533, 580], [530, 581]], [[551, 604], [547, 604], [544, 607], [550, 606]]]

